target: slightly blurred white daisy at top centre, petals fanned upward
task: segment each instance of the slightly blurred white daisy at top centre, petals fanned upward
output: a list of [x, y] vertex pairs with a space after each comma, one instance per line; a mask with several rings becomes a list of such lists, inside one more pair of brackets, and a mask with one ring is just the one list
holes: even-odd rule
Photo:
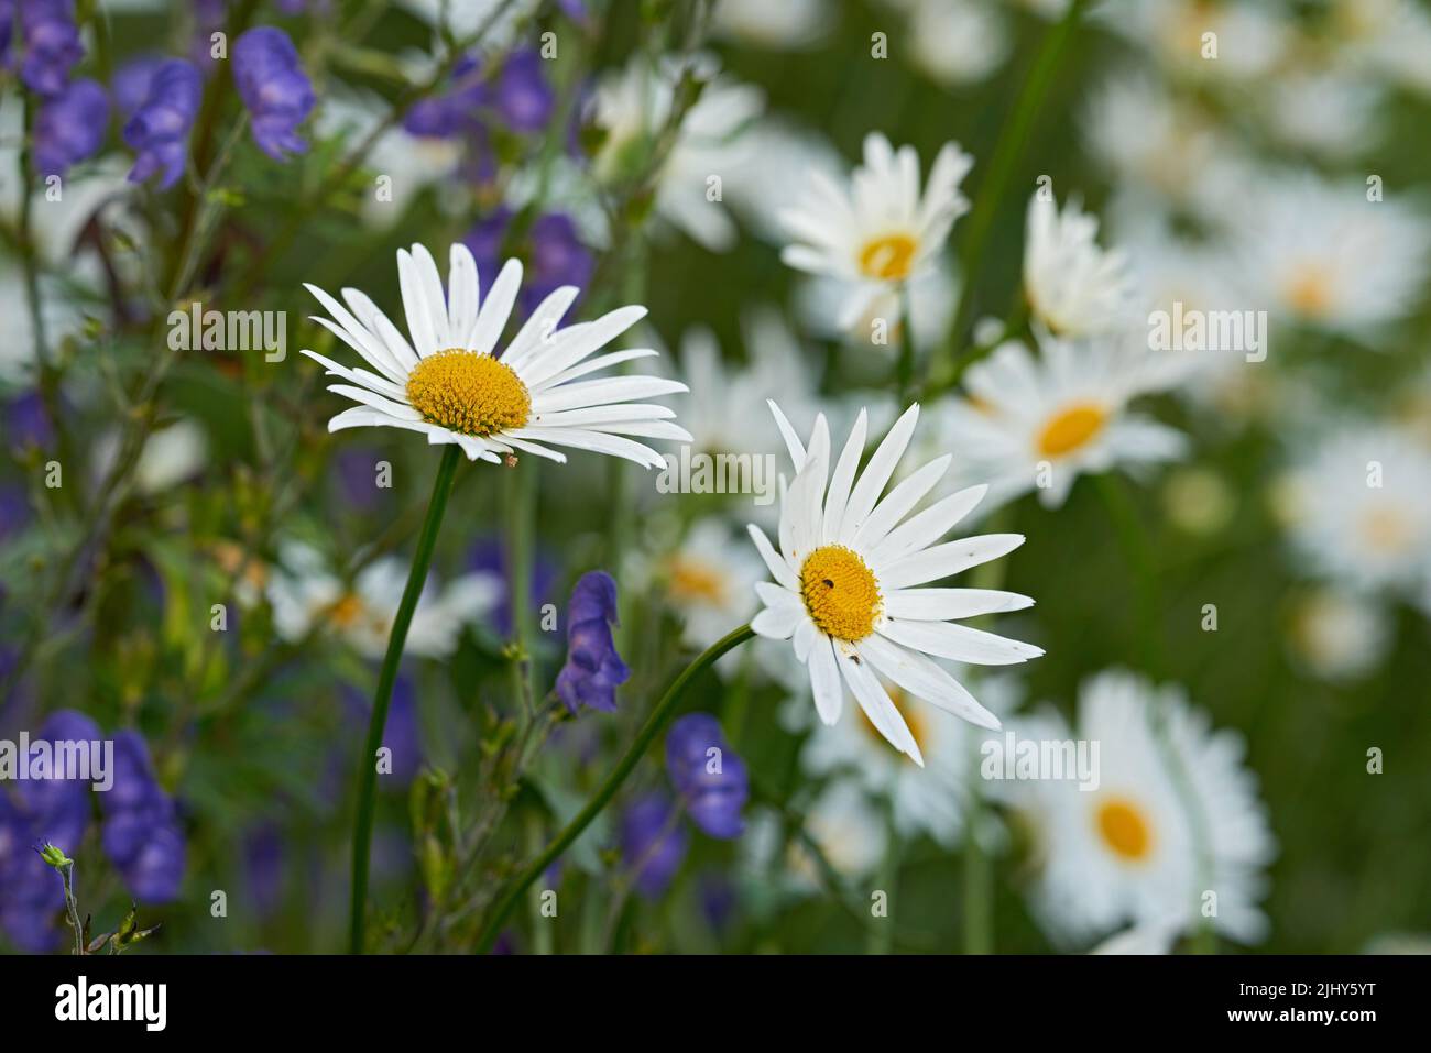
[[957, 143], [944, 143], [922, 193], [914, 147], [894, 150], [871, 132], [849, 186], [810, 175], [806, 199], [783, 216], [797, 240], [780, 258], [797, 270], [874, 289], [904, 282], [933, 266], [954, 220], [969, 210], [959, 183], [972, 167]]

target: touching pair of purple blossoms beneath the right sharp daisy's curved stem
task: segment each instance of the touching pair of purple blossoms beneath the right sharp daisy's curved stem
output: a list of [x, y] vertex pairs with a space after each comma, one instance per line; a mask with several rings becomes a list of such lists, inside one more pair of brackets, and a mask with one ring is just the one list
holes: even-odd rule
[[746, 830], [741, 810], [750, 798], [746, 763], [726, 741], [720, 721], [693, 712], [665, 737], [665, 770], [677, 800], [653, 791], [621, 816], [621, 858], [633, 887], [647, 898], [665, 891], [685, 861], [690, 833], [681, 813], [710, 837], [731, 840]]

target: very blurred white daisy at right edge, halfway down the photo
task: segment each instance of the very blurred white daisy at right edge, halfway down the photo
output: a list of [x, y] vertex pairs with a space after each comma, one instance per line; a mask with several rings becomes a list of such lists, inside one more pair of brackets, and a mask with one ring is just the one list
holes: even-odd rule
[[1408, 594], [1431, 574], [1431, 454], [1404, 431], [1344, 426], [1305, 451], [1278, 496], [1314, 574]]

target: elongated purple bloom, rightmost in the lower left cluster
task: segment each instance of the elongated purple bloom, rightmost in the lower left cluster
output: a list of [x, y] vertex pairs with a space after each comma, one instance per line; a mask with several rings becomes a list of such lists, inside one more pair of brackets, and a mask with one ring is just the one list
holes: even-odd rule
[[114, 735], [114, 785], [102, 794], [102, 843], [129, 893], [145, 903], [179, 897], [185, 836], [175, 801], [155, 778], [149, 747], [137, 731]]

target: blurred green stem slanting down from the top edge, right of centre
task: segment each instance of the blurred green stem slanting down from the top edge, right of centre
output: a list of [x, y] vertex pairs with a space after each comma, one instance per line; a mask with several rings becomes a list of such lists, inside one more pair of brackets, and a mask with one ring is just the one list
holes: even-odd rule
[[973, 213], [969, 216], [967, 235], [959, 252], [959, 278], [963, 289], [959, 293], [959, 308], [954, 312], [954, 323], [949, 329], [947, 345], [944, 348], [944, 366], [934, 382], [940, 391], [953, 386], [959, 373], [969, 365], [969, 359], [959, 361], [957, 353], [963, 346], [964, 329], [969, 326], [975, 302], [975, 273], [976, 265], [983, 260], [985, 249], [993, 233], [993, 220], [999, 213], [1009, 180], [1023, 155], [1023, 147], [1029, 140], [1033, 120], [1053, 83], [1053, 74], [1063, 60], [1063, 53], [1073, 36], [1079, 16], [1086, 0], [1073, 0], [1063, 19], [1059, 20], [1045, 36], [1033, 67], [1023, 82], [1023, 90], [1015, 103], [1013, 116], [1003, 126], [999, 142], [995, 145], [993, 156], [989, 160], [989, 175], [985, 176], [979, 187], [979, 199], [975, 202]]

